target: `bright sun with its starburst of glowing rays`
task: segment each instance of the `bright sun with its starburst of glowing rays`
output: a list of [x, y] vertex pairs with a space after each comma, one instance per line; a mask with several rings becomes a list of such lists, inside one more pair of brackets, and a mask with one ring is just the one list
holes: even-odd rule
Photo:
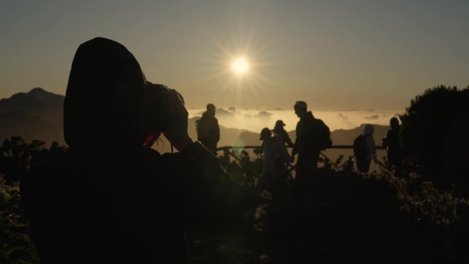
[[285, 87], [272, 75], [272, 69], [282, 64], [274, 52], [278, 43], [275, 36], [258, 32], [253, 24], [244, 29], [221, 37], [201, 28], [206, 41], [202, 52], [197, 53], [201, 62], [197, 71], [202, 77], [199, 83], [213, 88], [205, 95], [211, 101], [227, 106], [241, 102], [255, 106], [272, 91]]

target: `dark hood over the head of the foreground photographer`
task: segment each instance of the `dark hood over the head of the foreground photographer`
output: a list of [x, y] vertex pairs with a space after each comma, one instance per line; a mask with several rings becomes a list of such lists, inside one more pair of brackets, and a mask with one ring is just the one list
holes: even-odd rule
[[71, 148], [141, 145], [145, 75], [120, 43], [93, 38], [78, 47], [64, 100]]

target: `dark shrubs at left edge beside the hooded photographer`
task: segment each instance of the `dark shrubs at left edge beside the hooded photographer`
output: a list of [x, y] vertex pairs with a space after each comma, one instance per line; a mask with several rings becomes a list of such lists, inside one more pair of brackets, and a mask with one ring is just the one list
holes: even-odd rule
[[21, 136], [5, 139], [0, 146], [0, 263], [38, 263], [21, 208], [19, 180], [33, 163], [63, 154], [66, 147], [56, 142], [26, 143]]

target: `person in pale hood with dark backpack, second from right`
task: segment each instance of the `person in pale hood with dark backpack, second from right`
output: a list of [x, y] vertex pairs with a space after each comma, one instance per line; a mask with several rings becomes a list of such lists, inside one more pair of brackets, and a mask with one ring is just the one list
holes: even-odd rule
[[373, 125], [366, 124], [363, 129], [363, 134], [360, 134], [354, 139], [353, 152], [355, 155], [355, 163], [358, 171], [363, 173], [370, 171], [372, 159], [376, 163], [376, 145], [374, 144], [373, 133]]

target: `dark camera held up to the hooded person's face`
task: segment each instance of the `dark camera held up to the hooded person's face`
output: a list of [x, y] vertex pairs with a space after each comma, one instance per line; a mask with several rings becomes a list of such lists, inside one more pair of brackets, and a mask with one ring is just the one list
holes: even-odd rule
[[[145, 132], [148, 135], [144, 145], [151, 147], [158, 139], [160, 133], [171, 128], [169, 118], [169, 88], [164, 84], [147, 82], [145, 86]], [[178, 93], [176, 91], [176, 93]], [[178, 93], [179, 99], [184, 104], [184, 98]], [[156, 136], [156, 138], [155, 138]]]

